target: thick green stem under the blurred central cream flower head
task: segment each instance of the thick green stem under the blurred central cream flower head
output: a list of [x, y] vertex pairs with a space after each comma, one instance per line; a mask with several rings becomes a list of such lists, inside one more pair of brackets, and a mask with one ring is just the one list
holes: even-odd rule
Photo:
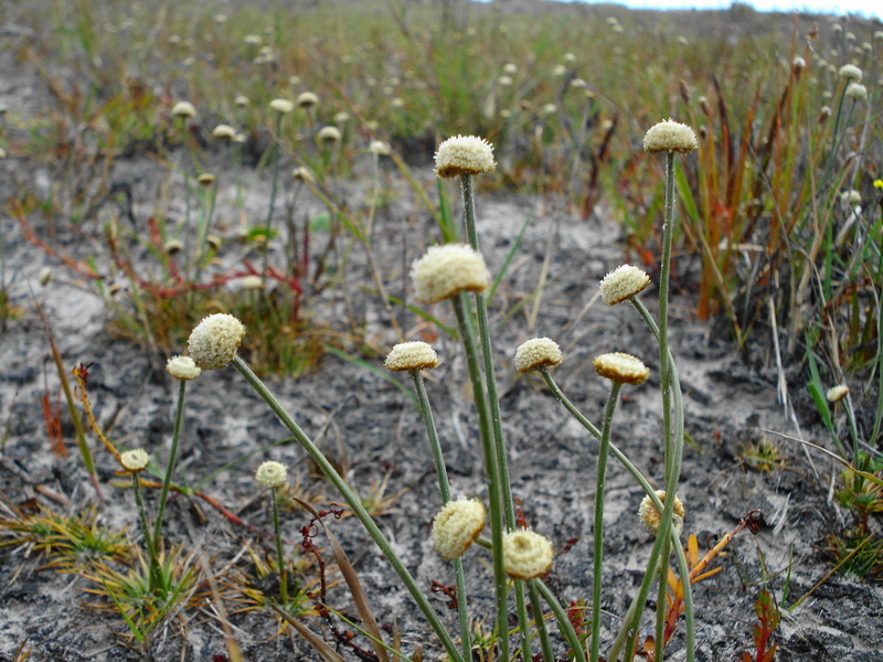
[[500, 633], [500, 662], [509, 660], [509, 618], [508, 618], [508, 595], [509, 586], [503, 569], [503, 509], [502, 494], [500, 489], [500, 470], [498, 456], [494, 450], [493, 436], [491, 431], [490, 414], [488, 403], [485, 398], [485, 391], [481, 384], [481, 369], [478, 364], [478, 346], [476, 344], [475, 330], [472, 329], [472, 316], [469, 310], [469, 299], [466, 292], [459, 292], [451, 297], [454, 312], [457, 316], [457, 324], [460, 329], [460, 338], [466, 350], [466, 365], [469, 370], [469, 381], [472, 384], [472, 399], [478, 415], [478, 429], [481, 437], [481, 450], [485, 455], [485, 471], [488, 477], [488, 500], [490, 502], [490, 525], [491, 541], [493, 545], [493, 587], [497, 598], [497, 630]]

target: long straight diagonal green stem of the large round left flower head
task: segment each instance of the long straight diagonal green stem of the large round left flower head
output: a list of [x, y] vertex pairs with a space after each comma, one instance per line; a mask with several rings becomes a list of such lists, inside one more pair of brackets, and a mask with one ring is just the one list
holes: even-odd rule
[[423, 612], [436, 637], [438, 637], [438, 640], [442, 642], [442, 645], [445, 648], [445, 651], [447, 652], [451, 662], [466, 662], [466, 660], [464, 660], [461, 656], [460, 651], [457, 650], [457, 645], [454, 643], [454, 640], [445, 630], [445, 626], [442, 623], [442, 620], [433, 610], [432, 605], [429, 605], [429, 601], [426, 599], [423, 592], [421, 592], [416, 580], [402, 563], [402, 559], [400, 559], [395, 554], [392, 545], [390, 545], [390, 542], [383, 535], [380, 527], [374, 523], [374, 520], [372, 520], [371, 515], [368, 514], [368, 511], [362, 505], [359, 496], [350, 489], [328, 458], [325, 457], [322, 451], [319, 450], [319, 448], [312, 442], [307, 434], [300, 429], [300, 426], [297, 425], [295, 419], [291, 418], [291, 416], [283, 408], [276, 397], [264, 385], [258, 376], [255, 375], [252, 369], [248, 367], [248, 365], [240, 356], [235, 356], [233, 359], [233, 365], [240, 371], [240, 373], [245, 377], [246, 382], [252, 385], [252, 387], [264, 399], [264, 402], [267, 403], [274, 414], [279, 417], [279, 420], [283, 423], [283, 425], [290, 430], [301, 447], [307, 451], [307, 453], [309, 453], [312, 461], [316, 462], [316, 465], [321, 469], [322, 473], [325, 473], [326, 478], [328, 478], [328, 480], [338, 489], [340, 494], [347, 501], [347, 504], [352, 510], [353, 514], [365, 527], [368, 534], [372, 537], [374, 543], [376, 543], [381, 552], [383, 552], [383, 555], [386, 557], [390, 566], [392, 566], [393, 570], [395, 570], [396, 575], [398, 575], [398, 578], [405, 585], [405, 588], [417, 604], [417, 607]]

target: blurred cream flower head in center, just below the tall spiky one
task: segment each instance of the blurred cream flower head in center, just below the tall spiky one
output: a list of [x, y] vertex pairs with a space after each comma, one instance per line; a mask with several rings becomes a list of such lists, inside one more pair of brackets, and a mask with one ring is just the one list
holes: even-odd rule
[[483, 292], [490, 286], [485, 258], [466, 244], [433, 246], [414, 263], [411, 276], [421, 303], [436, 303], [462, 290]]

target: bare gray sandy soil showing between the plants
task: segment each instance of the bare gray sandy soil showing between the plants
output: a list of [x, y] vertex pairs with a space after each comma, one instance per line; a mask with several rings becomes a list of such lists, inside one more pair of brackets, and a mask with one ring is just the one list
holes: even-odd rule
[[[24, 161], [8, 159], [0, 162], [0, 173], [10, 181], [13, 173], [23, 177], [20, 169], [28, 167]], [[152, 213], [163, 172], [148, 159], [116, 163], [111, 181], [131, 183], [136, 221], [143, 222]], [[40, 180], [52, 173], [35, 171], [29, 175]], [[426, 182], [428, 191], [434, 191], [429, 170], [419, 171], [418, 178]], [[366, 204], [363, 185], [345, 185], [353, 206]], [[170, 215], [182, 213], [181, 182], [173, 181], [173, 186], [177, 202], [172, 203]], [[249, 182], [247, 190], [246, 210], [251, 217], [259, 218], [260, 210], [266, 209], [267, 181]], [[454, 189], [451, 192], [456, 193]], [[9, 193], [4, 190], [4, 197]], [[436, 241], [437, 228], [406, 191], [400, 193], [377, 216], [374, 246], [390, 293], [405, 298], [409, 284], [403, 265], [409, 265]], [[232, 199], [233, 193], [222, 186], [219, 232], [226, 232], [227, 236], [232, 236], [234, 226]], [[305, 217], [321, 211], [318, 201], [304, 204], [299, 213]], [[624, 389], [614, 441], [659, 484], [663, 449], [657, 353], [630, 307], [608, 309], [596, 299], [597, 281], [623, 261], [620, 229], [605, 220], [603, 209], [593, 218], [579, 221], [560, 201], [479, 192], [478, 212], [482, 249], [492, 271], [502, 265], [524, 220], [532, 218], [492, 302], [491, 323], [498, 329], [494, 351], [513, 493], [521, 500], [530, 525], [550, 537], [560, 553], [547, 583], [567, 604], [591, 594], [597, 444], [567, 415], [540, 377], [514, 376], [512, 356], [529, 338], [546, 335], [556, 340], [564, 350], [565, 362], [555, 370], [555, 378], [597, 424], [608, 385], [595, 374], [592, 359], [609, 351], [640, 356], [653, 376], [639, 387]], [[102, 265], [107, 255], [94, 237], [100, 235], [102, 223], [118, 213], [108, 204], [77, 228], [56, 224], [52, 237], [43, 218], [34, 217], [32, 222], [39, 235], [53, 246], [76, 259], [95, 255]], [[50, 449], [41, 397], [47, 392], [55, 399], [60, 391], [35, 302], [46, 313], [68, 370], [77, 363], [93, 364], [89, 393], [96, 416], [104, 426], [113, 424], [111, 436], [121, 446], [143, 446], [164, 457], [171, 438], [175, 385], [162, 370], [162, 357], [108, 333], [105, 305], [73, 273], [28, 242], [13, 218], [0, 218], [0, 228], [8, 288], [13, 302], [24, 309], [24, 317], [11, 321], [0, 334], [0, 426], [6, 437], [0, 450], [2, 504], [8, 511], [11, 505], [36, 499], [57, 512], [73, 513], [94, 501], [94, 491], [72, 441], [66, 415], [68, 455], [58, 458]], [[232, 254], [222, 257], [232, 259]], [[533, 299], [515, 311], [540, 281], [546, 255], [549, 281], [538, 314], [532, 314]], [[365, 311], [365, 338], [387, 351], [395, 338], [386, 313], [375, 298], [355, 286], [370, 282], [363, 263], [363, 256], [354, 252], [348, 274], [353, 306]], [[54, 270], [45, 287], [38, 281], [43, 266]], [[678, 288], [689, 291], [695, 267], [689, 260], [679, 263]], [[656, 310], [656, 293], [648, 290], [642, 295], [651, 311]], [[757, 329], [748, 348], [740, 352], [727, 340], [725, 323], [700, 323], [692, 316], [692, 306], [688, 296], [675, 296], [671, 330], [685, 391], [685, 427], [692, 441], [685, 447], [679, 487], [687, 508], [684, 540], [694, 533], [704, 549], [751, 511], [762, 513], [757, 533], [742, 532], [727, 547], [728, 554], [714, 562], [722, 572], [694, 586], [696, 659], [730, 662], [743, 651], [754, 655], [752, 629], [758, 591], [766, 587], [777, 602], [791, 606], [822, 579], [821, 586], [797, 609], [780, 610], [781, 623], [775, 636], [779, 644], [777, 659], [883, 659], [880, 585], [840, 574], [827, 577], [831, 563], [825, 553], [825, 538], [851, 522], [851, 514], [832, 499], [831, 483], [839, 476], [839, 466], [775, 434], [831, 446], [813, 415], [796, 357], [783, 357], [786, 367], [780, 374], [768, 332]], [[453, 323], [446, 305], [433, 307], [432, 312]], [[341, 319], [345, 313], [339, 290], [328, 290], [315, 305], [312, 314], [325, 321]], [[411, 313], [398, 319], [404, 329], [412, 329], [419, 321]], [[434, 344], [443, 365], [428, 376], [427, 388], [453, 489], [457, 494], [483, 498], [483, 463], [462, 352], [444, 332], [438, 333]], [[380, 355], [366, 360], [382, 366]], [[442, 504], [423, 423], [403, 392], [377, 374], [331, 355], [300, 380], [268, 382], [307, 434], [345, 468], [347, 479], [357, 491], [364, 494], [387, 478], [386, 494], [401, 492], [377, 520], [427, 594], [432, 581], [454, 584], [450, 566], [433, 552], [428, 540], [432, 517]], [[402, 383], [409, 386], [406, 380]], [[791, 398], [787, 406], [777, 393], [778, 384]], [[844, 425], [842, 420], [838, 424]], [[779, 470], [759, 472], [744, 461], [744, 446], [764, 436], [780, 449], [784, 462]], [[114, 477], [113, 458], [89, 438], [107, 499], [99, 522], [113, 528], [127, 526], [132, 541], [138, 541], [131, 492], [111, 485], [111, 481], [119, 482]], [[244, 524], [232, 523], [204, 502], [177, 498], [170, 502], [167, 515], [167, 541], [195, 551], [219, 574], [231, 567], [248, 573], [246, 543], [270, 555], [272, 542], [266, 536], [272, 530], [268, 501], [253, 480], [254, 469], [262, 461], [286, 463], [290, 482], [298, 485], [300, 493], [319, 490], [329, 500], [334, 499], [331, 489], [310, 473], [304, 450], [292, 441], [279, 444], [287, 438], [287, 431], [232, 367], [206, 372], [192, 382], [179, 476], [194, 483], [241, 459], [202, 490], [236, 513]], [[615, 461], [610, 462], [604, 532], [606, 642], [617, 631], [619, 617], [637, 590], [651, 547], [650, 537], [636, 517], [641, 496], [634, 479]], [[155, 501], [156, 494], [149, 492], [148, 502]], [[194, 516], [196, 508], [204, 519]], [[319, 503], [317, 508], [329, 504]], [[289, 553], [300, 553], [297, 532], [308, 519], [301, 510], [284, 511], [284, 537]], [[327, 523], [359, 572], [380, 623], [401, 632], [405, 653], [422, 648], [426, 659], [439, 659], [442, 652], [434, 637], [355, 519], [334, 521], [329, 516]], [[317, 544], [328, 558], [330, 549], [321, 535], [317, 536]], [[477, 616], [486, 618], [492, 594], [488, 558], [483, 549], [470, 549], [465, 564], [468, 601]], [[83, 589], [91, 587], [87, 579], [45, 568], [45, 560], [26, 545], [0, 547], [0, 661], [15, 659], [22, 645], [24, 650], [32, 649], [29, 660], [39, 661], [209, 661], [221, 659], [213, 655], [225, 654], [220, 620], [209, 600], [174, 613], [151, 633], [145, 651], [126, 640], [125, 624], [111, 610], [98, 611], [85, 605]], [[315, 568], [309, 574], [313, 573]], [[446, 599], [439, 595], [432, 598], [450, 631], [456, 631], [456, 613], [447, 609]], [[341, 586], [329, 590], [328, 601], [336, 608], [352, 609]], [[226, 608], [236, 609], [232, 602]], [[646, 633], [651, 615], [652, 604], [648, 604]], [[321, 623], [311, 622], [320, 631]], [[289, 630], [279, 636], [279, 624], [268, 610], [234, 613], [231, 623], [247, 660], [318, 659]], [[683, 623], [670, 644], [670, 659], [684, 658], [682, 632]]]

